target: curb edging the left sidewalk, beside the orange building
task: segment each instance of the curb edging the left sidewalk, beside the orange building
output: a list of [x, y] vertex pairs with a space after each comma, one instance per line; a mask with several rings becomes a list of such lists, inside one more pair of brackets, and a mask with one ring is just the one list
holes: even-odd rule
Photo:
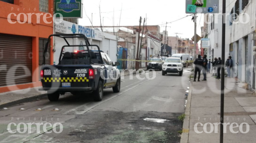
[[27, 98], [18, 99], [18, 100], [15, 100], [15, 101], [11, 101], [11, 102], [8, 102], [8, 103], [1, 104], [0, 109], [2, 109], [3, 107], [9, 107], [9, 106], [20, 104], [20, 103], [23, 103], [23, 102], [34, 101], [36, 99], [44, 98], [44, 97], [47, 97], [47, 94], [35, 95], [35, 96], [27, 97]]

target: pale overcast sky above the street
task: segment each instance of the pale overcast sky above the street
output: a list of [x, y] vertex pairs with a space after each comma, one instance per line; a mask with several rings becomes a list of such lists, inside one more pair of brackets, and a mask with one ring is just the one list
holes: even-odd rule
[[[147, 25], [160, 25], [160, 32], [162, 32], [165, 30], [166, 22], [190, 15], [185, 13], [185, 2], [185, 0], [83, 0], [83, 18], [79, 19], [79, 25], [90, 26], [90, 20], [92, 20], [93, 26], [99, 26], [100, 6], [104, 26], [113, 26], [113, 22], [115, 26], [139, 25], [141, 16], [143, 19], [147, 18]], [[192, 16], [189, 16], [167, 24], [168, 36], [175, 36], [175, 33], [179, 33], [177, 36], [191, 39], [194, 35], [194, 22], [191, 19]], [[204, 15], [198, 14], [197, 20], [197, 34], [201, 36]]]

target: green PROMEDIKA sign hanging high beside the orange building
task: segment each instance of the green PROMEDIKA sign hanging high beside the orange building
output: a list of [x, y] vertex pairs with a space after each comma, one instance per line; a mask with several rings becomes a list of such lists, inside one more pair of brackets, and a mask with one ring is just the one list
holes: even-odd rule
[[81, 0], [55, 0], [55, 14], [56, 17], [62, 14], [66, 18], [82, 18]]

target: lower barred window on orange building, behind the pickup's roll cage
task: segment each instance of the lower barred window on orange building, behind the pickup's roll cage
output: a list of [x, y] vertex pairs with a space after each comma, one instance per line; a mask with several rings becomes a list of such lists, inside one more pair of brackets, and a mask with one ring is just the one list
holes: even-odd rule
[[[39, 38], [39, 65], [42, 65], [44, 62], [44, 48], [47, 41], [48, 39]], [[46, 58], [45, 64], [50, 64], [50, 46], [48, 46], [48, 50], [45, 58]]]

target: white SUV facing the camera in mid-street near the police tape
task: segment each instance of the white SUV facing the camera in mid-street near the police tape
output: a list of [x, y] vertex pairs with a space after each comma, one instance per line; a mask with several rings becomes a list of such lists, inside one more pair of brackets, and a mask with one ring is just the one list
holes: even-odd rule
[[167, 73], [179, 73], [180, 76], [183, 75], [183, 64], [180, 58], [167, 58], [162, 66], [162, 75]]

